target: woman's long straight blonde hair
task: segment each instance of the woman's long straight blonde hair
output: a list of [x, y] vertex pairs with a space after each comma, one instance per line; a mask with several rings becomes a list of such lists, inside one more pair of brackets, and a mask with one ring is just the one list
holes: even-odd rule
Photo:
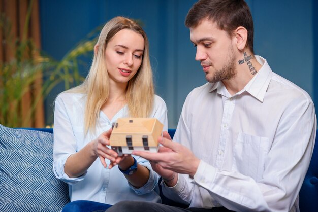
[[98, 51], [94, 53], [93, 61], [89, 73], [84, 82], [69, 90], [72, 93], [86, 94], [86, 104], [84, 113], [84, 131], [95, 132], [96, 122], [102, 105], [109, 96], [109, 76], [106, 68], [105, 49], [108, 42], [115, 34], [122, 29], [130, 29], [145, 40], [145, 49], [142, 56], [142, 63], [138, 72], [128, 82], [126, 88], [126, 102], [129, 115], [131, 117], [148, 117], [152, 110], [154, 99], [154, 88], [152, 80], [152, 69], [149, 60], [149, 43], [146, 33], [135, 21], [115, 17], [108, 21], [103, 27], [97, 41]]

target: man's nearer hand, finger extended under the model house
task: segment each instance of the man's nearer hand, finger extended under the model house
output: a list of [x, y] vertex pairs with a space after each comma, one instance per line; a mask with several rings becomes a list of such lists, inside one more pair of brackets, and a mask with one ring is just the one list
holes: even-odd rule
[[[159, 148], [158, 153], [134, 151], [132, 154], [146, 158], [152, 164], [156, 163], [152, 165], [152, 168], [164, 179], [169, 179], [165, 177], [168, 174], [167, 170], [189, 174], [193, 177], [198, 169], [200, 159], [186, 147], [172, 142], [170, 136], [168, 137], [167, 134], [165, 132], [164, 137], [158, 139], [158, 142], [163, 146]], [[172, 173], [170, 172], [170, 177], [173, 176]]]

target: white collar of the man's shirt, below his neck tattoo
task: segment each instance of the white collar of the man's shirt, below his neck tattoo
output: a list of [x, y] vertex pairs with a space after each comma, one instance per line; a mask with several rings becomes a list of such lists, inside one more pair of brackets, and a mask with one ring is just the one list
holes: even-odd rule
[[[244, 91], [248, 92], [250, 95], [254, 96], [261, 102], [264, 100], [264, 96], [266, 93], [266, 90], [268, 88], [268, 85], [270, 83], [270, 80], [272, 78], [272, 70], [269, 67], [266, 59], [264, 59], [261, 56], [255, 56], [257, 61], [262, 65], [261, 69], [258, 71], [258, 73], [245, 85], [243, 90], [239, 91], [235, 95], [239, 95], [243, 93]], [[212, 88], [210, 89], [210, 92], [217, 89], [217, 93], [221, 94], [226, 97], [230, 97], [231, 95], [227, 91], [226, 87], [222, 82], [216, 82], [212, 84]]]

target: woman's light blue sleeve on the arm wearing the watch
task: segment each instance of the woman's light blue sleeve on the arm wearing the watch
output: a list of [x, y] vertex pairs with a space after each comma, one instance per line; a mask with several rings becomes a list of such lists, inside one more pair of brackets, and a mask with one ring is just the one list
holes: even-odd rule
[[[152, 111], [152, 114], [150, 115], [150, 117], [158, 119], [164, 125], [163, 131], [168, 130], [167, 106], [166, 106], [165, 101], [157, 95], [155, 95], [155, 98], [154, 98], [154, 107], [153, 107], [153, 111]], [[158, 179], [160, 176], [155, 171], [152, 170], [151, 165], [150, 165], [148, 160], [146, 160], [142, 157], [139, 157], [137, 159], [137, 162], [140, 165], [143, 165], [143, 166], [148, 168], [149, 179], [148, 179], [147, 183], [140, 188], [134, 187], [129, 182], [128, 182], [128, 184], [135, 191], [136, 194], [150, 193], [157, 186]]]

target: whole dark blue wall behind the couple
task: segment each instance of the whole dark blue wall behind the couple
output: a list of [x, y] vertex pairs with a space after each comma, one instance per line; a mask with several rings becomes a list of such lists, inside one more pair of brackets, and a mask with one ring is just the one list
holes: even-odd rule
[[[169, 127], [176, 127], [186, 95], [205, 83], [184, 19], [195, 0], [45, 1], [40, 0], [42, 49], [61, 59], [97, 26], [122, 15], [142, 21], [150, 42], [156, 93], [168, 107]], [[247, 1], [255, 24], [255, 53], [272, 70], [306, 90], [318, 101], [317, 2]], [[142, 12], [140, 12], [142, 11]], [[314, 60], [315, 58], [315, 60]], [[316, 61], [314, 63], [314, 61]], [[87, 68], [82, 70], [86, 76]], [[314, 70], [316, 70], [314, 72]], [[55, 88], [46, 100], [46, 120], [52, 123], [52, 102], [63, 90]]]

